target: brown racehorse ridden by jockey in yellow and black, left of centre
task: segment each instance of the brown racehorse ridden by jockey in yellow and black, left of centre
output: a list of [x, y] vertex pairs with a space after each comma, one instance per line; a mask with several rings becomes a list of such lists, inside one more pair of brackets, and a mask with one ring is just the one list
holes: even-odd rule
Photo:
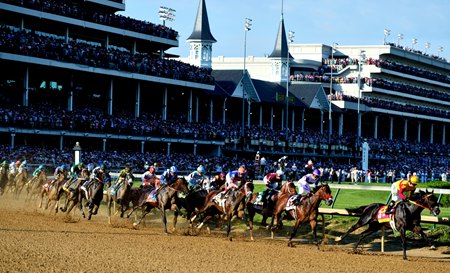
[[106, 193], [106, 202], [108, 203], [108, 223], [111, 224], [111, 206], [116, 203], [120, 206], [120, 217], [123, 217], [125, 211], [130, 208], [131, 187], [133, 186], [133, 175], [127, 173], [123, 184], [119, 188], [109, 187]]

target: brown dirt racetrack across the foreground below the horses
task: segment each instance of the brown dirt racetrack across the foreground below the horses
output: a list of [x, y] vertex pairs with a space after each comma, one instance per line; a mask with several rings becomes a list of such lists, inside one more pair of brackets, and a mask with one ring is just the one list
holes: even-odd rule
[[[288, 248], [284, 240], [269, 239], [258, 225], [253, 242], [240, 228], [232, 230], [232, 242], [216, 230], [189, 236], [185, 219], [175, 233], [163, 235], [159, 214], [150, 213], [145, 226], [133, 229], [131, 219], [117, 216], [108, 225], [104, 210], [87, 221], [78, 211], [49, 214], [36, 201], [23, 199], [0, 197], [0, 272], [411, 273], [450, 268], [448, 247], [409, 248], [408, 261], [403, 261], [398, 245], [380, 253], [379, 244], [366, 244], [359, 254], [334, 243], [320, 250], [305, 241]], [[311, 238], [310, 232], [302, 233]]]

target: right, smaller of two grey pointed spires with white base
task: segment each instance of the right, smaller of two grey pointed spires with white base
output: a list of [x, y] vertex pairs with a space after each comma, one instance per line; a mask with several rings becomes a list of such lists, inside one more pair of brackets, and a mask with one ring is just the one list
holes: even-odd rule
[[[288, 42], [286, 37], [286, 30], [284, 28], [283, 18], [283, 1], [281, 1], [281, 19], [278, 27], [277, 38], [275, 40], [275, 47], [269, 58], [272, 62], [272, 81], [273, 82], [286, 82], [289, 80], [288, 62], [292, 59], [292, 56], [288, 49]], [[289, 54], [289, 56], [288, 56]]]

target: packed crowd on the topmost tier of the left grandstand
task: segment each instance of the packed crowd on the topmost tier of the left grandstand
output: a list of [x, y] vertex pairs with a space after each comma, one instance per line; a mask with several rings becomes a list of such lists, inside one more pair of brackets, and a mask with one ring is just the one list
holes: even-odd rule
[[171, 40], [178, 39], [178, 32], [171, 28], [120, 14], [104, 13], [94, 9], [92, 5], [86, 8], [84, 1], [77, 3], [67, 0], [0, 0], [0, 2]]

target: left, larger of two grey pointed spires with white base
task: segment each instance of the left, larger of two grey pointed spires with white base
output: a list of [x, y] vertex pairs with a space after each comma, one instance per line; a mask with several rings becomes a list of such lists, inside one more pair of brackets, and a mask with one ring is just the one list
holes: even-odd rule
[[200, 0], [194, 31], [187, 41], [190, 44], [189, 62], [200, 67], [211, 68], [212, 44], [217, 41], [209, 28], [205, 0]]

